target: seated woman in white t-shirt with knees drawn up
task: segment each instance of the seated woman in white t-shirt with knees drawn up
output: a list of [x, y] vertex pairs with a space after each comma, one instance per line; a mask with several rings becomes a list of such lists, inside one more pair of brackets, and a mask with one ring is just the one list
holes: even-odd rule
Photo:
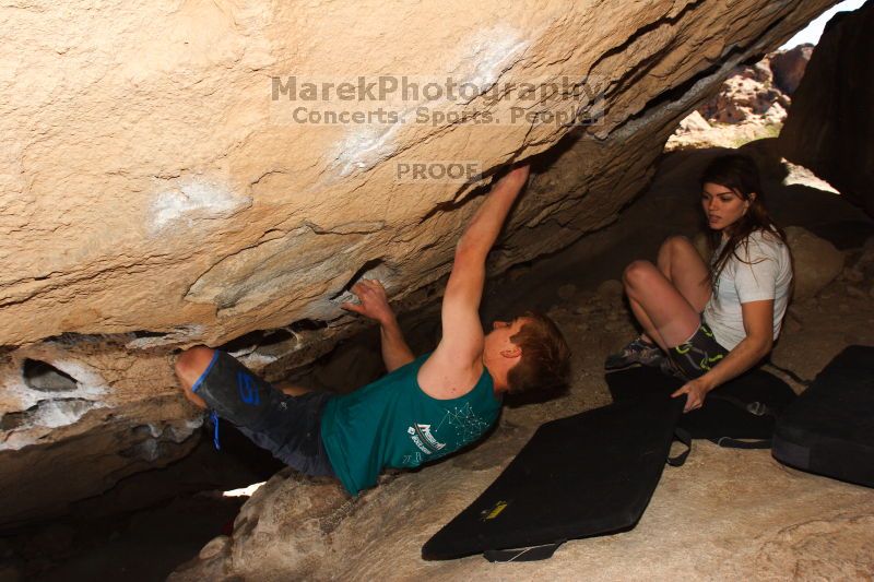
[[792, 283], [786, 235], [765, 210], [755, 162], [720, 156], [700, 185], [712, 235], [709, 268], [685, 237], [669, 238], [657, 264], [629, 264], [623, 282], [643, 333], [605, 363], [660, 366], [683, 378], [673, 395], [687, 394], [686, 412], [770, 352]]

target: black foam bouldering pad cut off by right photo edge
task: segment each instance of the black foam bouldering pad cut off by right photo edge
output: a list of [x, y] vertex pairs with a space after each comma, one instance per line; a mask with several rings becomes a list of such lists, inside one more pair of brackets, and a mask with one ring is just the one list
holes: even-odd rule
[[850, 346], [777, 423], [775, 459], [874, 487], [874, 346]]

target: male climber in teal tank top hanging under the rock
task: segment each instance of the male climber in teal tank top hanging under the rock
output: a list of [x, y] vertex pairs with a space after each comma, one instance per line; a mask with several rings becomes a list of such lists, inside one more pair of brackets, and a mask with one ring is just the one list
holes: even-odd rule
[[554, 387], [567, 373], [569, 348], [546, 316], [495, 321], [488, 333], [479, 316], [486, 257], [528, 176], [522, 165], [498, 179], [458, 241], [434, 352], [415, 357], [382, 285], [362, 280], [352, 288], [359, 302], [343, 307], [379, 324], [386, 376], [344, 395], [279, 390], [227, 353], [196, 346], [176, 361], [186, 397], [352, 495], [386, 467], [414, 468], [481, 439], [506, 393]]

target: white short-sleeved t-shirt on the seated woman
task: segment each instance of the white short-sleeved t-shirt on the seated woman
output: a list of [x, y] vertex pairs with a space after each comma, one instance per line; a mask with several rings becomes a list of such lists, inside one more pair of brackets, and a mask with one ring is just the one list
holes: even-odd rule
[[[775, 340], [780, 335], [789, 304], [792, 283], [789, 249], [782, 240], [765, 230], [755, 230], [747, 239], [748, 245], [741, 242], [736, 251], [743, 262], [734, 254], [729, 257], [719, 275], [719, 285], [704, 308], [705, 321], [717, 342], [727, 349], [734, 349], [746, 337], [741, 304], [773, 299]], [[723, 240], [713, 253], [713, 261], [724, 245]]]

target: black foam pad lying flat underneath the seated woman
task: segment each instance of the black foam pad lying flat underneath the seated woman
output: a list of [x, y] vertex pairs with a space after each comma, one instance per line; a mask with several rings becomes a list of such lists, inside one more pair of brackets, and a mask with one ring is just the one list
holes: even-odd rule
[[[652, 393], [670, 395], [684, 383], [645, 366], [610, 372], [605, 378], [616, 402]], [[704, 406], [684, 414], [678, 426], [694, 439], [731, 447], [742, 446], [742, 439], [754, 439], [767, 447], [777, 418], [795, 397], [789, 384], [754, 369], [711, 391]]]

